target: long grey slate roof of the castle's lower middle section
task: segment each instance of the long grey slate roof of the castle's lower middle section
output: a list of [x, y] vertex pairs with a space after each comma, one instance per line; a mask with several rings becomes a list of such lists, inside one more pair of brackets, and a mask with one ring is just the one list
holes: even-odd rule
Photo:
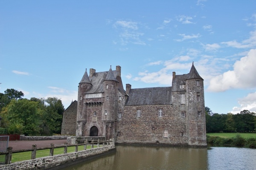
[[172, 87], [134, 88], [129, 91], [125, 106], [170, 105]]

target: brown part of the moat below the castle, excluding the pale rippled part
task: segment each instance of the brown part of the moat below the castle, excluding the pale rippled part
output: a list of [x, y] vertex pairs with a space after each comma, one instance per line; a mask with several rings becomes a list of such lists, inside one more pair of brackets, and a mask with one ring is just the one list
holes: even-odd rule
[[111, 153], [62, 170], [205, 170], [207, 148], [116, 146]]

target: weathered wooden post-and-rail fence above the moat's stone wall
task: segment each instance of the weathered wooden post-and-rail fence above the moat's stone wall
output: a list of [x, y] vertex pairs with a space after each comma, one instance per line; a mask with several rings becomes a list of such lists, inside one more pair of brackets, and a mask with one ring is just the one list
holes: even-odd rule
[[[81, 140], [79, 140], [79, 141], [81, 141]], [[107, 143], [107, 145], [109, 145], [110, 142], [113, 142], [113, 141], [111, 141], [111, 140], [99, 141], [98, 140], [96, 142], [95, 141], [87, 142], [87, 140], [84, 140], [83, 144], [70, 144], [70, 145], [68, 145], [67, 143], [64, 143], [64, 145], [61, 145], [61, 146], [54, 146], [54, 144], [52, 143], [51, 147], [44, 147], [44, 148], [38, 148], [38, 149], [36, 148], [37, 145], [33, 144], [32, 145], [32, 149], [26, 149], [26, 150], [15, 150], [15, 151], [13, 151], [12, 147], [8, 147], [7, 151], [0, 152], [0, 155], [5, 155], [5, 164], [11, 164], [12, 153], [21, 153], [21, 152], [31, 151], [31, 159], [35, 159], [36, 158], [36, 151], [37, 150], [50, 149], [49, 156], [53, 156], [54, 148], [64, 147], [64, 154], [65, 154], [65, 153], [67, 153], [67, 147], [69, 147], [69, 146], [76, 146], [74, 152], [77, 152], [78, 151], [78, 146], [80, 146], [80, 145], [84, 145], [84, 150], [86, 150], [86, 147], [87, 147], [88, 144], [91, 145], [91, 149], [93, 149], [94, 144], [97, 144], [97, 147], [99, 147], [100, 144], [102, 144], [102, 146], [105, 146], [106, 143]]]

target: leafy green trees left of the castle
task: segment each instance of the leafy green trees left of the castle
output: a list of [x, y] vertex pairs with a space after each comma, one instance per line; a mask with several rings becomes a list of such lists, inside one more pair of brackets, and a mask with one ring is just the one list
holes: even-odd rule
[[0, 93], [0, 133], [49, 136], [61, 133], [64, 105], [56, 97], [23, 99], [22, 91]]

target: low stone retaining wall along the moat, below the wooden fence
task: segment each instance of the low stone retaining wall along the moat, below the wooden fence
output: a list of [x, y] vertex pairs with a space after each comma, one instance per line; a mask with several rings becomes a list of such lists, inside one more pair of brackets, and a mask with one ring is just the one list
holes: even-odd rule
[[46, 156], [42, 158], [19, 161], [12, 164], [0, 165], [1, 170], [49, 170], [65, 167], [68, 164], [75, 164], [79, 161], [91, 159], [94, 156], [106, 154], [114, 151], [114, 144], [105, 147], [94, 148], [90, 150], [82, 150], [73, 153], [60, 154], [55, 156]]

